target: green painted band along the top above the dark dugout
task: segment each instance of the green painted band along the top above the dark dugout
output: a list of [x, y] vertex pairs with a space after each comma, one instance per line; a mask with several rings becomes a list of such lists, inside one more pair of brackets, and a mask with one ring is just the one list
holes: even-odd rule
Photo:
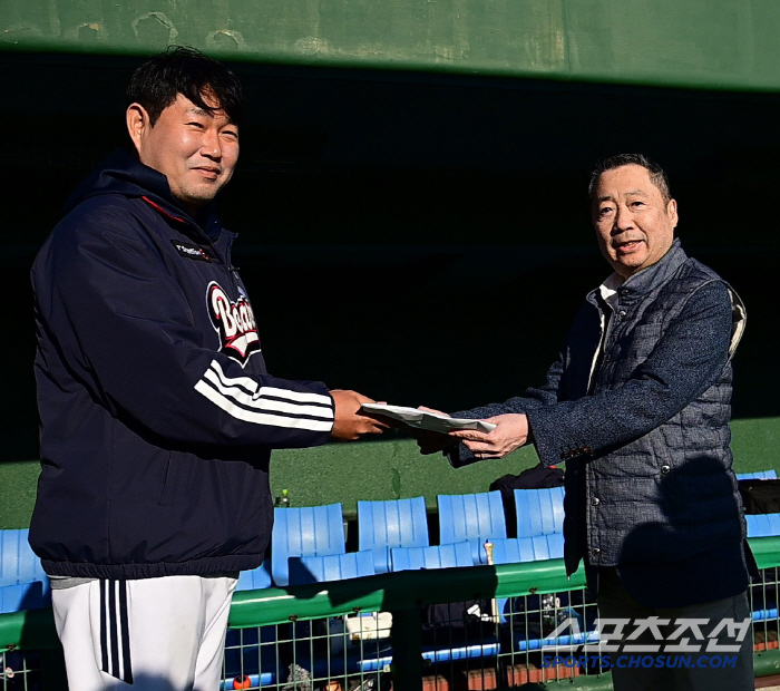
[[3, 0], [0, 48], [780, 88], [774, 0]]

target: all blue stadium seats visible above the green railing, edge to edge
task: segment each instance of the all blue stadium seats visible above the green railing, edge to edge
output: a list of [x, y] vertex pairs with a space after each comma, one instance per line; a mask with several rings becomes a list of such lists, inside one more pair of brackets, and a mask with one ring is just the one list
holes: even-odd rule
[[[777, 473], [737, 477], [770, 479], [777, 478]], [[359, 502], [357, 553], [345, 552], [341, 505], [276, 509], [272, 559], [244, 572], [238, 587], [254, 590], [409, 568], [484, 564], [485, 541], [495, 545], [496, 564], [559, 558], [563, 488], [517, 489], [515, 502], [518, 538], [509, 539], [498, 492], [440, 495], [438, 546], [429, 544], [422, 497]], [[748, 515], [747, 519], [749, 537], [780, 535], [780, 514]], [[0, 613], [39, 609], [50, 602], [48, 578], [28, 545], [27, 534], [27, 529], [0, 531]], [[470, 562], [462, 543], [468, 543]]]

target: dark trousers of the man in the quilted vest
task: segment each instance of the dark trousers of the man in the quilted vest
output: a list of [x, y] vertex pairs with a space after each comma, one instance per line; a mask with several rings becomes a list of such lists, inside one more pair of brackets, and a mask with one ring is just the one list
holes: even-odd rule
[[[601, 626], [607, 635], [615, 636], [608, 644], [620, 646], [604, 653], [612, 662], [615, 691], [752, 691], [754, 688], [752, 629], [748, 625], [744, 633], [744, 622], [751, 619], [747, 593], [685, 607], [646, 607], [626, 592], [614, 568], [605, 568], [599, 572], [598, 613], [602, 621], [631, 620], [622, 627], [620, 622]], [[649, 617], [657, 617], [659, 624], [645, 625], [640, 633], [642, 626], [637, 626], [637, 620], [647, 622]], [[669, 623], [661, 623], [665, 620]], [[724, 626], [723, 620], [743, 625]], [[735, 651], [724, 650], [737, 646]]]

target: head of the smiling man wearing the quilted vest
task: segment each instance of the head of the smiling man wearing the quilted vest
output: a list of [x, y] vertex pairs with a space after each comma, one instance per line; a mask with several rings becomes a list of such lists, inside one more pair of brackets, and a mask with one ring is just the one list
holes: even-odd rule
[[602, 254], [624, 279], [657, 262], [672, 246], [677, 203], [663, 198], [647, 168], [632, 164], [605, 171], [592, 204]]

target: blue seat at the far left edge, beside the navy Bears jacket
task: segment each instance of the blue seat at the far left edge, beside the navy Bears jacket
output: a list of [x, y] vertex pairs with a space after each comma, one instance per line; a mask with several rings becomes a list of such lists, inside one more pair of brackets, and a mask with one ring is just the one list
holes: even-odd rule
[[0, 531], [0, 614], [51, 605], [49, 578], [27, 541], [29, 531]]

